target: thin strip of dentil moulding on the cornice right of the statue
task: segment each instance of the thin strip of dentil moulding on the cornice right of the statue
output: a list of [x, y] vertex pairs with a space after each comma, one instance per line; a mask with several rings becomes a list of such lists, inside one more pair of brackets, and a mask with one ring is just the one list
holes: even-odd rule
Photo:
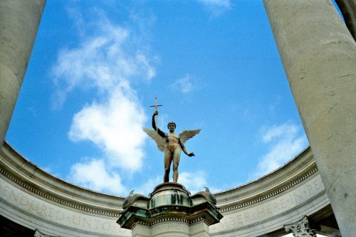
[[268, 199], [271, 199], [271, 198], [273, 198], [273, 197], [275, 197], [275, 196], [287, 191], [288, 189], [293, 188], [293, 186], [296, 186], [296, 185], [300, 184], [302, 181], [304, 181], [305, 179], [308, 179], [310, 176], [312, 176], [316, 172], [318, 172], [318, 168], [317, 167], [312, 169], [307, 174], [303, 175], [303, 177], [300, 177], [299, 179], [297, 179], [297, 180], [293, 181], [292, 183], [288, 184], [287, 186], [284, 186], [281, 189], [273, 191], [271, 194], [267, 194], [267, 195], [262, 196], [262, 197], [260, 197], [258, 199], [253, 199], [251, 201], [248, 201], [248, 202], [245, 202], [243, 204], [236, 205], [236, 206], [229, 206], [229, 207], [226, 207], [226, 208], [221, 208], [219, 212], [224, 213], [224, 212], [228, 212], [228, 211], [234, 211], [236, 209], [242, 209], [242, 208], [245, 208], [246, 206], [251, 206], [251, 205], [254, 205], [254, 204], [258, 204], [261, 201], [266, 201]]

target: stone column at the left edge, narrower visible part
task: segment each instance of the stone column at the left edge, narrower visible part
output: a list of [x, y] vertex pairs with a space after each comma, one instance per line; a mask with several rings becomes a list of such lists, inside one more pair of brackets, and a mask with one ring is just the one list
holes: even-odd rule
[[4, 142], [46, 0], [0, 1], [0, 144]]

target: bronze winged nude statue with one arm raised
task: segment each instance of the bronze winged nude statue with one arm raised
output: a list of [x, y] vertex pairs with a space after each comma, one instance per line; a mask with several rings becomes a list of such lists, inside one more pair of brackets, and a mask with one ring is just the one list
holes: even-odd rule
[[194, 153], [189, 153], [187, 148], [184, 146], [184, 143], [188, 139], [197, 135], [200, 130], [183, 130], [179, 136], [174, 134], [176, 129], [176, 124], [174, 122], [169, 122], [167, 127], [169, 133], [164, 133], [160, 130], [155, 122], [155, 116], [158, 115], [158, 111], [152, 115], [152, 127], [153, 130], [143, 127], [143, 131], [147, 133], [152, 139], [157, 143], [157, 147], [161, 152], [164, 152], [164, 176], [163, 181], [169, 181], [169, 171], [171, 164], [173, 162], [173, 181], [177, 183], [178, 181], [178, 166], [180, 153], [183, 151], [187, 156], [193, 157]]

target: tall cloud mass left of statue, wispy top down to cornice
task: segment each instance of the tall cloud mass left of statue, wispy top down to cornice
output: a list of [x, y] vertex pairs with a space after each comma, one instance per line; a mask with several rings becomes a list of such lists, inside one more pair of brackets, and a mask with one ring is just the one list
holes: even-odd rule
[[[77, 26], [85, 27], [80, 14], [74, 19]], [[75, 89], [95, 92], [73, 116], [68, 137], [93, 142], [103, 157], [74, 164], [69, 179], [90, 189], [122, 194], [125, 187], [117, 167], [129, 172], [142, 167], [145, 135], [141, 127], [147, 120], [130, 82], [152, 79], [155, 68], [130, 28], [115, 25], [103, 13], [100, 20], [88, 24], [90, 31], [80, 29], [78, 46], [58, 53], [51, 70], [56, 85], [53, 107], [63, 107]]]

